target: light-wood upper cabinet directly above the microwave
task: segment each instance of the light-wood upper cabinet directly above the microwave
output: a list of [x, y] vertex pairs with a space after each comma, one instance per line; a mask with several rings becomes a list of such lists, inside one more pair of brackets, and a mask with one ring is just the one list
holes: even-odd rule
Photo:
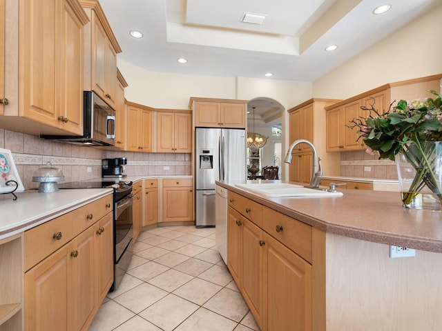
[[84, 85], [117, 110], [117, 54], [122, 49], [98, 1], [80, 3], [90, 19], [84, 30]]

